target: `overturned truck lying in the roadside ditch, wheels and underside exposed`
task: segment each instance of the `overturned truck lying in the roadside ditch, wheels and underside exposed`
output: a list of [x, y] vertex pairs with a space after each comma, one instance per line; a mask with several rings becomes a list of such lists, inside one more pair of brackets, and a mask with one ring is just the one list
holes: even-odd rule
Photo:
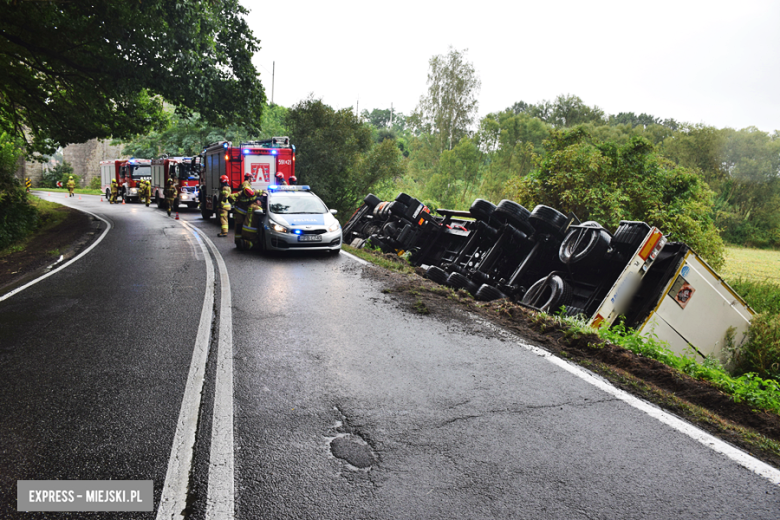
[[545, 312], [619, 316], [680, 354], [722, 357], [745, 341], [753, 311], [693, 250], [645, 222], [614, 233], [549, 206], [477, 199], [469, 211], [433, 214], [405, 193], [373, 194], [344, 226], [344, 243], [406, 254], [432, 281], [484, 301], [509, 298]]

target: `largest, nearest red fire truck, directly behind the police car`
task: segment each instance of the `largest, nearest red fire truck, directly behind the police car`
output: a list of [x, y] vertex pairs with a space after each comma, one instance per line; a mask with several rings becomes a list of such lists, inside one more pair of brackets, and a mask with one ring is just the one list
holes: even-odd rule
[[201, 154], [200, 212], [211, 218], [219, 201], [219, 178], [227, 175], [230, 188], [238, 191], [244, 174], [252, 176], [252, 189], [264, 190], [276, 182], [281, 173], [286, 182], [295, 175], [295, 146], [289, 137], [249, 141], [233, 146], [230, 141], [212, 143]]

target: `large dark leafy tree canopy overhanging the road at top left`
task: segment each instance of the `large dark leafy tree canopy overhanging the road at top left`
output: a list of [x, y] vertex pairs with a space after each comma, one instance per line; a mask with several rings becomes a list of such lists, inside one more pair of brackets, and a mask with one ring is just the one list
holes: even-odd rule
[[0, 0], [0, 129], [28, 154], [164, 121], [163, 99], [215, 126], [256, 126], [265, 94], [238, 0]]

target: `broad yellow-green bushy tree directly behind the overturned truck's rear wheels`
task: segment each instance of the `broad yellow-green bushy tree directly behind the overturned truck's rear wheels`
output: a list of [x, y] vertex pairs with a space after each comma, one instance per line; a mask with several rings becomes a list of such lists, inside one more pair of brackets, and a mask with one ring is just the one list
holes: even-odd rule
[[553, 131], [544, 147], [539, 169], [513, 183], [521, 204], [573, 211], [613, 231], [620, 220], [642, 220], [686, 242], [715, 268], [723, 264], [723, 241], [710, 216], [713, 192], [647, 139], [594, 143], [578, 127]]

